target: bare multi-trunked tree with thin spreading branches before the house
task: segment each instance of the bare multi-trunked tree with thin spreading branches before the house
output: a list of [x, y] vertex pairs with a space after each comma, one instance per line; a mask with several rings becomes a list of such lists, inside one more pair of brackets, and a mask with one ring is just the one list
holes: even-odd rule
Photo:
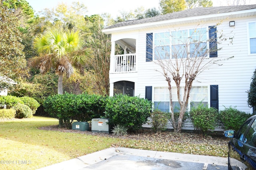
[[[218, 48], [218, 44], [223, 41], [232, 43], [233, 37], [227, 38], [222, 31], [218, 32], [216, 27], [174, 30], [154, 35], [154, 42], [151, 43], [152, 49], [154, 48], [154, 62], [161, 68], [156, 71], [160, 72], [168, 83], [171, 109], [170, 121], [176, 133], [181, 132], [182, 119], [188, 106], [193, 81], [204, 70], [214, 65], [220, 65], [221, 57], [215, 56], [221, 50], [221, 48]], [[232, 57], [225, 58], [225, 60], [230, 58]], [[176, 84], [180, 105], [178, 121], [174, 119], [172, 80]], [[178, 123], [176, 124], [176, 122]]]

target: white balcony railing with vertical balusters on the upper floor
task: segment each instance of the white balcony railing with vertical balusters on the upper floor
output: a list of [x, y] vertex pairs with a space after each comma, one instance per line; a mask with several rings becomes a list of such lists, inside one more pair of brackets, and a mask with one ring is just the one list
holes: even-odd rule
[[114, 56], [114, 72], [136, 71], [136, 54], [123, 54]]

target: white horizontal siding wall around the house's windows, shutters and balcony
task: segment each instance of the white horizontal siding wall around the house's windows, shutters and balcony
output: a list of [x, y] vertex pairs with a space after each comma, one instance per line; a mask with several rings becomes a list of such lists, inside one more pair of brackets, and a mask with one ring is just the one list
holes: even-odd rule
[[[229, 27], [229, 21], [235, 21], [235, 27]], [[247, 104], [246, 91], [250, 88], [251, 78], [256, 69], [256, 55], [248, 53], [248, 21], [256, 21], [255, 17], [249, 18], [232, 18], [223, 20], [221, 25], [217, 26], [219, 32], [227, 37], [234, 37], [233, 44], [229, 39], [222, 44], [218, 44], [218, 59], [234, 58], [222, 61], [222, 66], [214, 66], [204, 70], [196, 77], [193, 86], [208, 86], [208, 104], [210, 105], [210, 85], [218, 85], [218, 102], [219, 110], [224, 107], [236, 106], [238, 110], [252, 113], [252, 109]], [[201, 23], [202, 27], [216, 25], [219, 21], [209, 21]], [[152, 86], [152, 101], [154, 101], [154, 87], [167, 87], [168, 84], [164, 76], [157, 72], [161, 68], [153, 62], [146, 62], [146, 33], [156, 33], [172, 31], [175, 29], [193, 29], [194, 24], [173, 25], [169, 27], [155, 27], [154, 29], [140, 29], [136, 31], [112, 33], [112, 43], [118, 39], [134, 38], [136, 39], [136, 73], [112, 73], [110, 71], [110, 89], [113, 89], [114, 82], [127, 80], [135, 82], [135, 96], [145, 97], [145, 86]], [[219, 34], [220, 35], [220, 34]], [[113, 48], [112, 48], [113, 49]], [[112, 53], [112, 56], [114, 54]], [[154, 55], [153, 55], [154, 58]], [[110, 68], [111, 69], [111, 68]], [[174, 82], [172, 86], [175, 86]], [[110, 94], [112, 94], [110, 90]]]

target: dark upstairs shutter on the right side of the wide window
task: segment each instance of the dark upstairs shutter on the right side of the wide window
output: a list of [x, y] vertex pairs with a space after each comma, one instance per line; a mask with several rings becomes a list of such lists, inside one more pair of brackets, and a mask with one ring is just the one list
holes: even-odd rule
[[209, 49], [210, 57], [218, 57], [218, 48], [217, 48], [217, 28], [216, 26], [209, 27]]

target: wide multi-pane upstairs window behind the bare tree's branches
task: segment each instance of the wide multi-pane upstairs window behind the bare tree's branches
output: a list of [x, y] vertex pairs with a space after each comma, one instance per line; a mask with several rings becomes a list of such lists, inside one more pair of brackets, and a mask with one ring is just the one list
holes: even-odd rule
[[[210, 57], [217, 57], [216, 26], [151, 33], [150, 35], [153, 35], [154, 43], [151, 45], [154, 49], [154, 60], [207, 57], [208, 53]], [[148, 39], [146, 44], [148, 47]]]

